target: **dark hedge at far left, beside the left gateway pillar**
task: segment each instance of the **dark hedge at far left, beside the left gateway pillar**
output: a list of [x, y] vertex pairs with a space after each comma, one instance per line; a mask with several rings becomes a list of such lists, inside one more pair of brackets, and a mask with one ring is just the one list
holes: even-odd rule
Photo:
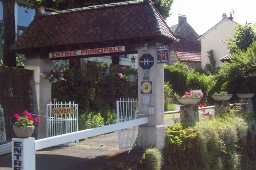
[[32, 86], [33, 71], [0, 66], [0, 105], [3, 107], [7, 140], [14, 136], [14, 113], [34, 110]]

